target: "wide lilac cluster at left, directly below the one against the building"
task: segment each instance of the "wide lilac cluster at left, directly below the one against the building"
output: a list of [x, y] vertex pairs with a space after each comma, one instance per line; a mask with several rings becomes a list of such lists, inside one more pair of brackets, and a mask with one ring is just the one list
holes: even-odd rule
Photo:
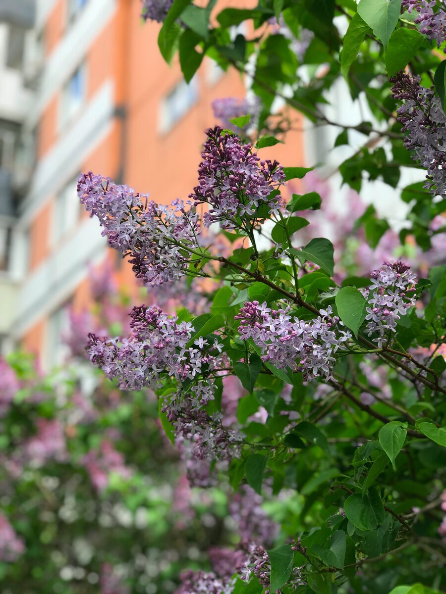
[[[87, 352], [93, 363], [102, 367], [107, 377], [117, 378], [125, 390], [155, 389], [164, 374], [179, 381], [191, 381], [194, 405], [212, 400], [215, 391], [212, 380], [197, 380], [197, 377], [205, 370], [212, 374], [218, 368], [222, 350], [218, 339], [209, 345], [208, 340], [200, 337], [188, 347], [194, 331], [192, 324], [178, 323], [177, 316], [165, 314], [156, 305], [134, 307], [130, 317], [133, 336], [129, 338], [100, 339], [90, 334]], [[181, 409], [181, 394], [175, 398], [171, 408], [176, 413]]]

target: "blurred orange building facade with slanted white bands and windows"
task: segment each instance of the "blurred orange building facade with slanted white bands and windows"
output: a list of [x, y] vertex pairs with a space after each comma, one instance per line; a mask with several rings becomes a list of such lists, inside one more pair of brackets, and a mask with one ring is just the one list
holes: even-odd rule
[[[134, 283], [131, 267], [83, 212], [78, 173], [110, 176], [160, 203], [187, 198], [203, 132], [217, 123], [212, 100], [246, 95], [243, 78], [210, 59], [187, 85], [177, 62], [169, 67], [159, 53], [159, 24], [143, 23], [140, 11], [140, 0], [37, 3], [43, 68], [24, 122], [36, 137], [36, 165], [12, 238], [10, 340], [38, 353], [46, 367], [58, 362], [67, 304], [88, 299], [89, 265], [110, 258], [120, 282]], [[265, 158], [304, 165], [302, 135], [293, 134]]]

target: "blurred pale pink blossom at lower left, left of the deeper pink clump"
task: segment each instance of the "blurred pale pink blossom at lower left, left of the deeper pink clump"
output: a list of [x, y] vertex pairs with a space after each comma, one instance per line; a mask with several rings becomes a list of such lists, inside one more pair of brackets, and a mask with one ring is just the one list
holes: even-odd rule
[[37, 419], [37, 433], [24, 444], [24, 455], [33, 466], [42, 466], [47, 460], [67, 460], [64, 427], [57, 419]]

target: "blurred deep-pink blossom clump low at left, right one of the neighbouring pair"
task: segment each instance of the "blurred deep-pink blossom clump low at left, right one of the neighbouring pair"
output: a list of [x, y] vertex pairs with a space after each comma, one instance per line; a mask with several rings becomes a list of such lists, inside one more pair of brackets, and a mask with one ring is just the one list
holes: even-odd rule
[[103, 440], [99, 450], [90, 450], [82, 459], [90, 476], [92, 485], [98, 491], [108, 486], [110, 473], [114, 472], [123, 479], [131, 477], [131, 470], [124, 464], [124, 456], [115, 450], [111, 441]]

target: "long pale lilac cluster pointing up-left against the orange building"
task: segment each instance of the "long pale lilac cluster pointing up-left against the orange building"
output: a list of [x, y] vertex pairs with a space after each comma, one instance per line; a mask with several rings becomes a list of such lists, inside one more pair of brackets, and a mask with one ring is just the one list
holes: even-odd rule
[[197, 247], [199, 215], [186, 211], [183, 201], [162, 206], [92, 172], [78, 179], [77, 192], [91, 216], [98, 217], [111, 247], [131, 257], [137, 278], [161, 285], [186, 273], [189, 259], [181, 246]]

